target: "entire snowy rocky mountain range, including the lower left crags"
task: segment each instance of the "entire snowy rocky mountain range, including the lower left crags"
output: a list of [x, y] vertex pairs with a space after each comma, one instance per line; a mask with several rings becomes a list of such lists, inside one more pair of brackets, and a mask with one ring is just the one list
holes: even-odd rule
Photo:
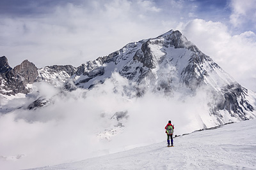
[[129, 89], [135, 92], [133, 97], [141, 97], [148, 91], [169, 97], [175, 93], [195, 96], [198, 90], [203, 91], [211, 96], [209, 115], [219, 124], [247, 120], [256, 115], [256, 94], [237, 83], [180, 31], [171, 30], [157, 38], [129, 43], [79, 67], [38, 69], [24, 60], [12, 69], [6, 57], [1, 57], [0, 73], [0, 93], [3, 95], [28, 94], [27, 85], [35, 81], [46, 81], [66, 91], [93, 89], [113, 73], [118, 73], [133, 83]]

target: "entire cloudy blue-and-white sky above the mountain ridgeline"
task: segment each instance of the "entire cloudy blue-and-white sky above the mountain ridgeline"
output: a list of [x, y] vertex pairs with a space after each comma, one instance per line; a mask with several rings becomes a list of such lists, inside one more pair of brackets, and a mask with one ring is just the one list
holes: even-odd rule
[[132, 41], [179, 30], [256, 91], [254, 0], [1, 0], [0, 55], [12, 67], [79, 66]]

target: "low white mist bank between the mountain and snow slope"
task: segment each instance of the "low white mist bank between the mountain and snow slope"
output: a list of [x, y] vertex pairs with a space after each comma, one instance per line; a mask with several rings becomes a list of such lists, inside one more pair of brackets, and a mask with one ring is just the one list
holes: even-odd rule
[[[124, 88], [132, 89], [130, 85], [133, 84], [114, 73], [92, 90], [77, 89], [52, 97], [49, 94], [60, 91], [45, 90], [37, 96], [51, 98], [47, 106], [2, 114], [1, 167], [24, 169], [60, 164], [165, 141], [168, 120], [175, 125], [175, 134], [204, 127], [200, 117], [209, 113], [206, 97], [201, 94], [163, 97], [147, 92], [136, 98], [132, 92], [124, 93]], [[44, 83], [36, 86], [35, 89], [47, 87]], [[31, 103], [20, 100], [22, 106]], [[116, 120], [116, 113], [125, 116]]]

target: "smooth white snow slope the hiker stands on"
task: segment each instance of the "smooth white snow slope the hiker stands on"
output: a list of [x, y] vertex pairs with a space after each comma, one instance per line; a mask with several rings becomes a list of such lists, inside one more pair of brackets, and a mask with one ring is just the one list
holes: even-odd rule
[[47, 169], [256, 169], [256, 120]]

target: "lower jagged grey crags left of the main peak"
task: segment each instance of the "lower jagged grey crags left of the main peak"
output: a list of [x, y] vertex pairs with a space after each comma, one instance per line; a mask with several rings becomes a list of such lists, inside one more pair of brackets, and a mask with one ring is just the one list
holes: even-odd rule
[[46, 81], [56, 87], [62, 87], [77, 71], [77, 68], [71, 65], [54, 65], [38, 69], [35, 64], [28, 60], [24, 60], [12, 69], [4, 56], [0, 57], [0, 66], [0, 93], [4, 95], [28, 94], [30, 89], [27, 85], [35, 81]]

